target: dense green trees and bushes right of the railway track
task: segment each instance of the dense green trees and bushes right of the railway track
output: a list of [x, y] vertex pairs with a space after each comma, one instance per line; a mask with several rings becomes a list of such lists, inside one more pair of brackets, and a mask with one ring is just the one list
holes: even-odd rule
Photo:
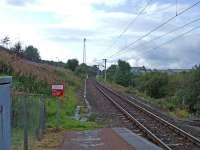
[[200, 65], [187, 72], [169, 74], [154, 70], [138, 75], [131, 71], [128, 62], [119, 60], [107, 69], [107, 79], [153, 99], [163, 99], [171, 110], [184, 107], [200, 115]]

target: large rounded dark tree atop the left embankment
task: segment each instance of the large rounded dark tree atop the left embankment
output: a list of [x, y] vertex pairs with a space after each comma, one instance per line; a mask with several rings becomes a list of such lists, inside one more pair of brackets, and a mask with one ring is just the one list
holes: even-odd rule
[[32, 45], [26, 47], [24, 51], [24, 57], [31, 60], [38, 62], [40, 61], [40, 54], [37, 48], [33, 47]]

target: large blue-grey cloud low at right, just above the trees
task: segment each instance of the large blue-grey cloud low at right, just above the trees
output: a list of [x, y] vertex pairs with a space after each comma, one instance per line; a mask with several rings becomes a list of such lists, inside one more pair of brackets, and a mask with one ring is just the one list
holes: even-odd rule
[[147, 50], [148, 46], [156, 47], [152, 44], [151, 46], [130, 50], [121, 58], [124, 60], [142, 60], [144, 62], [142, 65], [151, 68], [192, 68], [194, 65], [200, 64], [199, 41], [200, 36], [198, 34], [191, 34], [158, 49]]

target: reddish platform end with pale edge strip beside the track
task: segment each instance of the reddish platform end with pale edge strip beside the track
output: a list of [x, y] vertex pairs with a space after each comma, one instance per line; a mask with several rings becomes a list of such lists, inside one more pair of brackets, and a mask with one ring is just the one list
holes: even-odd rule
[[126, 128], [68, 131], [60, 150], [161, 150]]

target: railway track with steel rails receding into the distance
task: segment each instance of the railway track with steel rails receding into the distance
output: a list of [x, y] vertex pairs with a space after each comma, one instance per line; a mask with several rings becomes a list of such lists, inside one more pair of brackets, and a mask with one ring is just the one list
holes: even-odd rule
[[95, 82], [95, 86], [132, 124], [133, 132], [149, 139], [163, 149], [200, 150], [200, 140], [198, 138], [102, 84]]

